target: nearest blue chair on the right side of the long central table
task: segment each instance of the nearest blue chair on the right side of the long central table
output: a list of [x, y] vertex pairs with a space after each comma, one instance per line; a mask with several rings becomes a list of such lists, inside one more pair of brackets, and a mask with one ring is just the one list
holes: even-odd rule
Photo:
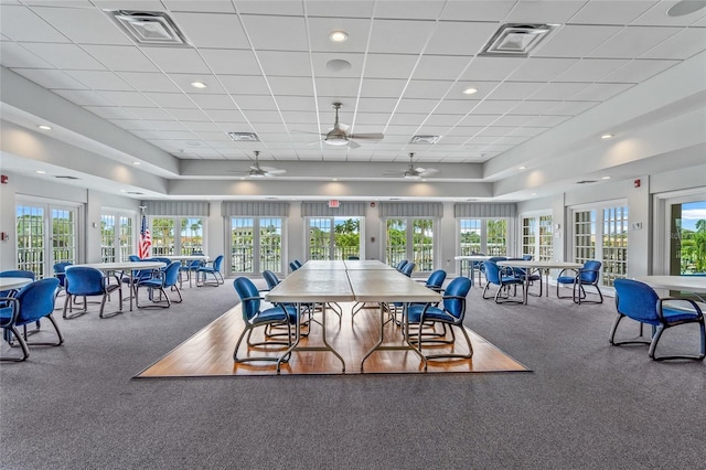
[[[442, 303], [440, 306], [436, 307], [431, 303], [413, 303], [407, 308], [407, 324], [417, 325], [418, 328], [416, 340], [410, 340], [408, 332], [406, 334], [406, 338], [408, 339], [410, 344], [416, 345], [419, 354], [422, 354], [426, 360], [443, 357], [471, 359], [473, 356], [473, 345], [471, 344], [471, 339], [469, 338], [466, 328], [463, 328], [463, 319], [466, 317], [466, 297], [468, 296], [468, 292], [470, 290], [471, 280], [467, 277], [457, 277], [447, 286], [442, 297]], [[422, 338], [424, 333], [421, 325], [427, 323], [441, 323], [443, 325], [449, 325], [451, 338]], [[467, 353], [422, 353], [422, 344], [454, 344], [456, 335], [453, 334], [453, 327], [460, 328], [463, 332], [463, 337], [466, 338], [466, 342], [468, 344]], [[425, 371], [427, 370], [426, 361], [424, 364], [424, 368]]]

